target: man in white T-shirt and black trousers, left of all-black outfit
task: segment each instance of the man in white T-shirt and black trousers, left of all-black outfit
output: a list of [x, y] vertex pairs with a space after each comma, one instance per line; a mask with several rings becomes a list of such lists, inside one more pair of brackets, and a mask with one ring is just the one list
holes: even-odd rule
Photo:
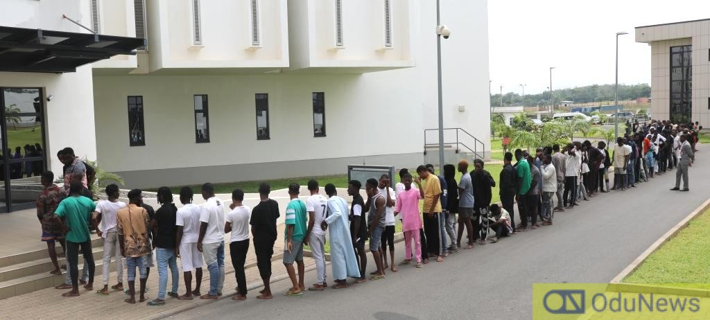
[[251, 208], [242, 204], [244, 201], [244, 191], [234, 189], [231, 192], [231, 211], [226, 215], [224, 233], [231, 232], [229, 238], [229, 253], [231, 255], [231, 265], [234, 267], [234, 277], [236, 277], [236, 294], [232, 300], [246, 300], [246, 274], [244, 273], [244, 263], [246, 263], [246, 252], [249, 251], [249, 218]]

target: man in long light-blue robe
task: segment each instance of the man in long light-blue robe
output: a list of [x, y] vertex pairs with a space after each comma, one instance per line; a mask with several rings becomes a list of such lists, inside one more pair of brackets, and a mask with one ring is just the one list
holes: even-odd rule
[[337, 196], [333, 184], [326, 184], [325, 192], [329, 197], [328, 213], [322, 228], [330, 232], [330, 263], [337, 282], [334, 288], [342, 289], [348, 286], [347, 277], [360, 277], [360, 270], [350, 236], [348, 202]]

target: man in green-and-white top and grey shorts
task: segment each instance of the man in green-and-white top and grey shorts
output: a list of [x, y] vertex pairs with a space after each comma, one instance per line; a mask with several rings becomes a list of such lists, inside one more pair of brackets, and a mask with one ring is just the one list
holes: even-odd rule
[[[283, 265], [286, 267], [288, 277], [291, 278], [293, 287], [288, 290], [285, 296], [300, 296], [303, 294], [305, 285], [303, 285], [303, 274], [305, 266], [303, 265], [303, 238], [306, 235], [306, 204], [298, 199], [300, 186], [292, 183], [288, 186], [288, 195], [291, 202], [286, 206], [286, 244], [283, 248]], [[296, 281], [296, 272], [293, 269], [293, 261], [298, 265], [298, 281]]]

